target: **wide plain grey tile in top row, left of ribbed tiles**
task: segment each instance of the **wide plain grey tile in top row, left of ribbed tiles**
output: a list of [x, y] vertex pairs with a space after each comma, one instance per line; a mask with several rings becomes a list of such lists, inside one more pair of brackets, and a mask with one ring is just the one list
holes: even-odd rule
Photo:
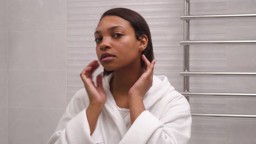
[[66, 0], [9, 0], [10, 29], [66, 29]]

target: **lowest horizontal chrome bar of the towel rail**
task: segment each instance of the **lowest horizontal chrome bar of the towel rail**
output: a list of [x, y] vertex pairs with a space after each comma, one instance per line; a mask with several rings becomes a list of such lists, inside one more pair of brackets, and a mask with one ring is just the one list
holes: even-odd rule
[[216, 117], [216, 118], [256, 118], [256, 115], [227, 115], [227, 114], [199, 114], [192, 113], [192, 117]]

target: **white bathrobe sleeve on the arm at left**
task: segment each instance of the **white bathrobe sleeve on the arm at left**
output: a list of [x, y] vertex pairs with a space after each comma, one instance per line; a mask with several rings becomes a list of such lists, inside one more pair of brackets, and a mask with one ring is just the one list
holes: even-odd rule
[[90, 135], [90, 127], [86, 117], [86, 104], [77, 92], [69, 102], [66, 111], [59, 121], [54, 134], [47, 144], [103, 144], [102, 134], [97, 121], [95, 131]]

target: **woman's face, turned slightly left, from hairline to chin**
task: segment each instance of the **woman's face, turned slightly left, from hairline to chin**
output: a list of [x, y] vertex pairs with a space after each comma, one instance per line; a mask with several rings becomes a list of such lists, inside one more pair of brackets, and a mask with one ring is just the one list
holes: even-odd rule
[[107, 71], [140, 63], [140, 41], [130, 23], [118, 16], [105, 16], [95, 31], [96, 53]]

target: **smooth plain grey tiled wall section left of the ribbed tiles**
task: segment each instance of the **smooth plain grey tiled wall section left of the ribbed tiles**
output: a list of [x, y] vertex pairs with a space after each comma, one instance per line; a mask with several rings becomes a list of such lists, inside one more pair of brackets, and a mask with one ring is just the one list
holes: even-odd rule
[[[8, 10], [9, 22], [8, 55], [1, 56], [8, 56], [7, 87], [1, 89], [8, 93], [8, 104], [4, 102], [8, 116], [7, 108], [0, 110], [5, 114], [1, 124], [8, 118], [9, 137], [5, 134], [2, 139], [0, 134], [1, 144], [46, 144], [64, 113], [66, 4], [66, 0], [6, 0], [5, 6], [1, 4]], [[3, 50], [7, 53], [7, 48]], [[1, 61], [1, 68], [1, 74], [6, 73], [6, 63]], [[1, 79], [7, 80], [2, 75]], [[1, 81], [1, 85], [6, 83]]]

